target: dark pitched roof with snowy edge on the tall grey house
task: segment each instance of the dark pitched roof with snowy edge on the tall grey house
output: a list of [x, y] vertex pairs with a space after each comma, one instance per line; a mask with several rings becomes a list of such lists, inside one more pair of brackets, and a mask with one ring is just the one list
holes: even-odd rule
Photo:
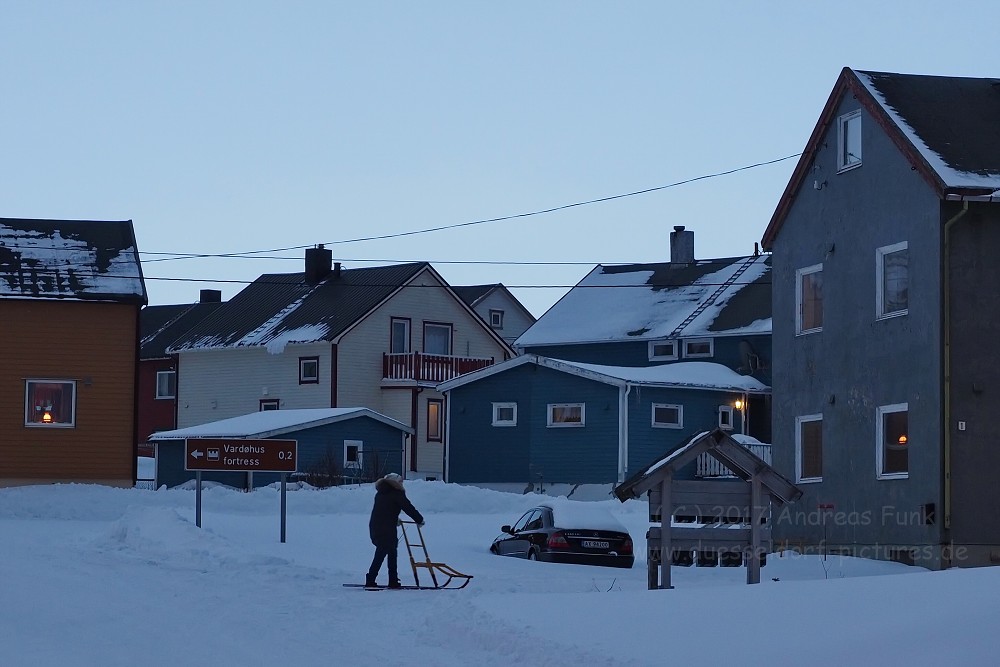
[[894, 74], [845, 67], [763, 236], [770, 249], [814, 154], [851, 94], [941, 198], [1000, 189], [1000, 79]]

